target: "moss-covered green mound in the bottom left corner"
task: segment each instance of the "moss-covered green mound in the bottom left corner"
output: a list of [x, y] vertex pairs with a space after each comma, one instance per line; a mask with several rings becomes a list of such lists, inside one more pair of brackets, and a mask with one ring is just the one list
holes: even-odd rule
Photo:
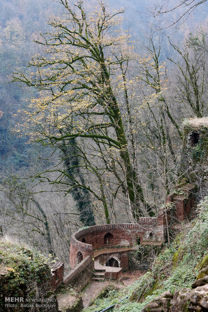
[[[5, 297], [27, 297], [32, 298], [36, 303], [41, 303], [40, 300], [47, 302], [52, 299], [55, 303], [51, 311], [57, 310], [56, 298], [51, 291], [51, 271], [48, 260], [38, 252], [8, 239], [0, 240], [0, 276], [1, 311], [28, 310], [21, 307], [18, 301], [14, 306], [6, 305], [8, 301], [5, 301]], [[30, 307], [33, 307], [33, 303]]]

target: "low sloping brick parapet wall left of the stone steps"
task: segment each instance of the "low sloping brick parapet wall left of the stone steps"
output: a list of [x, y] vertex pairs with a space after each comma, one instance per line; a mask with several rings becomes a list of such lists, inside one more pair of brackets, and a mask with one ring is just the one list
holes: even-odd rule
[[82, 290], [90, 281], [94, 271], [94, 261], [90, 256], [84, 258], [72, 271], [63, 278], [65, 285], [76, 287], [76, 291]]

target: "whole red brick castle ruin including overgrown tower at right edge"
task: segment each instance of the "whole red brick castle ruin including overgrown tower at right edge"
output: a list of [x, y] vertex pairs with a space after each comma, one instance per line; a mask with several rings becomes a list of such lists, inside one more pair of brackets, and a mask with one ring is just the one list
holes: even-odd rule
[[[191, 120], [184, 126], [181, 181], [167, 196], [167, 220], [164, 208], [160, 208], [157, 217], [141, 217], [137, 223], [94, 225], [78, 230], [71, 238], [69, 262], [72, 270], [63, 277], [66, 285], [81, 290], [94, 275], [97, 280], [121, 278], [122, 271], [129, 271], [129, 253], [140, 245], [162, 245], [167, 223], [169, 228], [175, 229], [194, 217], [198, 185], [192, 170], [197, 164], [200, 168], [206, 165], [207, 127], [208, 118]], [[207, 188], [204, 185], [202, 189]]]

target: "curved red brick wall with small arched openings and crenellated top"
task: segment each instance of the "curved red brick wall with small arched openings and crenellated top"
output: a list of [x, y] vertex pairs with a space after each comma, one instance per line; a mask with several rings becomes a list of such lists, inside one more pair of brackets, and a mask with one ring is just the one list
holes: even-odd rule
[[[105, 244], [105, 235], [110, 233], [113, 240]], [[163, 243], [163, 212], [159, 217], [139, 218], [138, 223], [94, 225], [79, 230], [72, 235], [70, 246], [70, 265], [73, 269], [77, 265], [77, 254], [80, 252], [83, 259], [93, 257], [93, 249], [113, 246], [132, 246], [137, 238], [143, 245]], [[86, 243], [82, 243], [82, 239]]]

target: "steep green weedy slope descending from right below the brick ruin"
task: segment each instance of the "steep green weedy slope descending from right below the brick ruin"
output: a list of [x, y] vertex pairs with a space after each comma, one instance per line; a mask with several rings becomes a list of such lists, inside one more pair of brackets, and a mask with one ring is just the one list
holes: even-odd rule
[[[172, 294], [208, 274], [208, 197], [198, 205], [198, 216], [185, 223], [170, 247], [165, 246], [152, 269], [136, 283], [120, 292], [110, 291], [107, 298], [97, 299], [85, 312], [116, 304], [116, 311], [141, 311], [147, 303], [165, 291]], [[207, 270], [207, 271], [206, 271]], [[122, 302], [120, 302], [123, 298]], [[182, 312], [182, 311], [181, 311]]]

